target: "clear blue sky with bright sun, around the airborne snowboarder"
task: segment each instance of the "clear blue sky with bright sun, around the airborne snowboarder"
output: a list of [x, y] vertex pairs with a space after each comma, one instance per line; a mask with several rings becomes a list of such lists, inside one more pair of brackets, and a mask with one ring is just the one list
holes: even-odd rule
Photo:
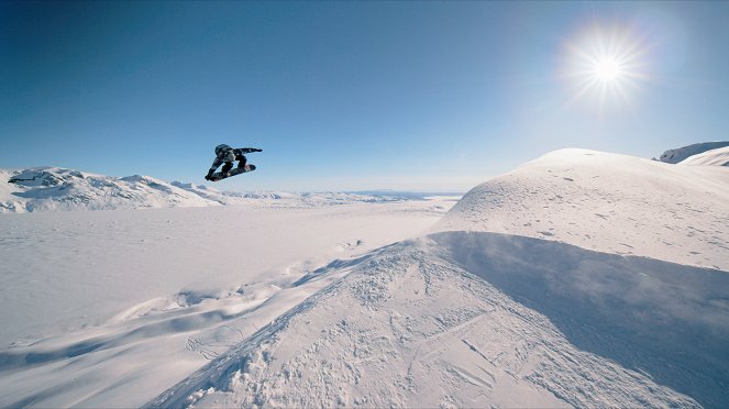
[[[2, 2], [0, 167], [466, 191], [729, 139], [729, 2]], [[207, 183], [209, 184], [209, 183]], [[209, 184], [210, 185], [210, 184]]]

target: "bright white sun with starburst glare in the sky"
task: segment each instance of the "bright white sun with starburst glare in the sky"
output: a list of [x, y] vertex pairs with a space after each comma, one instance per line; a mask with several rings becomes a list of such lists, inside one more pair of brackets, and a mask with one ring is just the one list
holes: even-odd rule
[[647, 47], [626, 27], [594, 25], [567, 45], [566, 73], [571, 102], [588, 99], [600, 110], [630, 106], [645, 73]]

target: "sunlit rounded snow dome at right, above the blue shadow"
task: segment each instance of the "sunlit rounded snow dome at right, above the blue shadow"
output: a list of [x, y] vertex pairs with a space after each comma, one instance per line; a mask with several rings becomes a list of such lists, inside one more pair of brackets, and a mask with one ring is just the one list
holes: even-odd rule
[[434, 231], [483, 231], [729, 269], [729, 169], [586, 150], [546, 154], [467, 192]]

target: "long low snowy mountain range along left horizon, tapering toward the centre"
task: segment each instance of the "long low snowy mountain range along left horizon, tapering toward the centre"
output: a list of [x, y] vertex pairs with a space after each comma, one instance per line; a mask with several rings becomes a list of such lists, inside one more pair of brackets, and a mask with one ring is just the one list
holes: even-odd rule
[[60, 167], [0, 169], [0, 213], [253, 204], [309, 208], [422, 199], [398, 192], [230, 192], [150, 176], [111, 177]]

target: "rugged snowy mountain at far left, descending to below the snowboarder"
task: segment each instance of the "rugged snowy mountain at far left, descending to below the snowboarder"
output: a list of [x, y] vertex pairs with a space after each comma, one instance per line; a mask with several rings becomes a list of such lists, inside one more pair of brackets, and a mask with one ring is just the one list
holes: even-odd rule
[[216, 206], [148, 176], [115, 178], [58, 167], [0, 169], [0, 212]]

